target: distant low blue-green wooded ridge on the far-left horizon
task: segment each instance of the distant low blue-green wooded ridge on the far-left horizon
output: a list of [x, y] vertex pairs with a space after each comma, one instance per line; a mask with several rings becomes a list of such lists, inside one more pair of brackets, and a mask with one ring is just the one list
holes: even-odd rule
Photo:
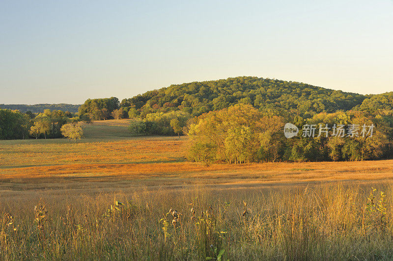
[[41, 113], [44, 112], [46, 109], [50, 109], [51, 111], [53, 110], [60, 110], [60, 111], [69, 111], [71, 113], [77, 113], [78, 108], [81, 105], [75, 105], [75, 104], [65, 104], [65, 103], [59, 103], [59, 104], [34, 104], [34, 105], [27, 105], [27, 104], [0, 104], [1, 109], [10, 109], [10, 110], [19, 110], [22, 113], [26, 113], [27, 111], [30, 111], [32, 113]]

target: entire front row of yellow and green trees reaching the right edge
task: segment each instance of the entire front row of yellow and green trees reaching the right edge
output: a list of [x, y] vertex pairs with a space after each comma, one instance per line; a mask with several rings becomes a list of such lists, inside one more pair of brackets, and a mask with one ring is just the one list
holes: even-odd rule
[[[307, 124], [317, 126], [315, 136], [287, 139], [285, 122], [300, 132]], [[326, 125], [328, 124], [328, 125]], [[335, 136], [319, 128], [336, 125], [373, 125], [372, 136]], [[311, 118], [282, 117], [251, 105], [237, 104], [189, 121], [189, 159], [226, 163], [274, 161], [358, 161], [393, 156], [393, 111], [376, 116], [365, 111], [319, 113]], [[360, 133], [358, 133], [360, 134]]]

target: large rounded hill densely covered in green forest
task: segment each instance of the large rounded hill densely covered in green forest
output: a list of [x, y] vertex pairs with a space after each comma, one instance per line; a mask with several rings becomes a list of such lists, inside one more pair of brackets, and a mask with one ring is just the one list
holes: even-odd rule
[[236, 103], [245, 103], [256, 108], [285, 110], [306, 116], [320, 112], [348, 111], [370, 97], [299, 82], [242, 76], [171, 85], [123, 99], [120, 107], [135, 107], [143, 118], [148, 113], [178, 109], [201, 115]]

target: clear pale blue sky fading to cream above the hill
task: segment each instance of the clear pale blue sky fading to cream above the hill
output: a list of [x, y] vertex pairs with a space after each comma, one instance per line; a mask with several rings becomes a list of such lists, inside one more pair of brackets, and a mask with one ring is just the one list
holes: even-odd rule
[[393, 0], [0, 1], [0, 103], [244, 75], [393, 91]]

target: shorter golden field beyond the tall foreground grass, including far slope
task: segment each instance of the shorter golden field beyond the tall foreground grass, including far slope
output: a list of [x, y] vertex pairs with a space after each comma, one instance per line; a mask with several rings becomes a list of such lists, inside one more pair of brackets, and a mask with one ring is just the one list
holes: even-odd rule
[[128, 122], [107, 120], [84, 125], [85, 138], [77, 143], [65, 139], [1, 141], [2, 189], [33, 189], [40, 183], [75, 186], [76, 182], [95, 186], [100, 182], [124, 186], [257, 186], [393, 179], [393, 160], [211, 166], [190, 163], [185, 158], [187, 138], [129, 137]]

